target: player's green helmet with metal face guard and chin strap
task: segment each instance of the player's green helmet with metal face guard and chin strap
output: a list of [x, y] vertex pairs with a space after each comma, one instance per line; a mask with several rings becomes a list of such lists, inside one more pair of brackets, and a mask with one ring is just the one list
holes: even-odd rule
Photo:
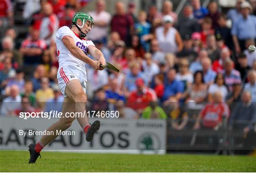
[[[82, 21], [82, 26], [77, 25], [77, 19], [81, 19], [81, 21]], [[92, 28], [93, 25], [94, 25], [94, 22], [93, 22], [93, 18], [92, 18], [90, 15], [88, 15], [88, 14], [86, 14], [86, 13], [82, 13], [82, 12], [78, 12], [78, 13], [76, 13], [76, 14], [74, 15], [74, 17], [73, 17], [73, 19], [72, 19], [72, 23], [73, 23], [73, 25], [75, 25], [76, 28], [80, 31], [80, 34], [79, 34], [80, 38], [86, 37], [86, 34], [87, 34], [87, 33], [86, 33], [86, 34], [83, 33], [82, 30], [81, 30], [81, 28], [82, 28], [86, 23], [88, 23], [88, 22], [90, 22], [89, 27]]]

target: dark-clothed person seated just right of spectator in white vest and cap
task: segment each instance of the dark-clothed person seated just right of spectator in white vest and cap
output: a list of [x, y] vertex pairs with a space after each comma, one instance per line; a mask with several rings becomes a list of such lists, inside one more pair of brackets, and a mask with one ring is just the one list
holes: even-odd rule
[[183, 44], [184, 47], [182, 51], [177, 53], [177, 57], [187, 57], [189, 62], [193, 62], [197, 57], [197, 52], [193, 50], [193, 42], [191, 36], [186, 34], [185, 37], [183, 37]]

